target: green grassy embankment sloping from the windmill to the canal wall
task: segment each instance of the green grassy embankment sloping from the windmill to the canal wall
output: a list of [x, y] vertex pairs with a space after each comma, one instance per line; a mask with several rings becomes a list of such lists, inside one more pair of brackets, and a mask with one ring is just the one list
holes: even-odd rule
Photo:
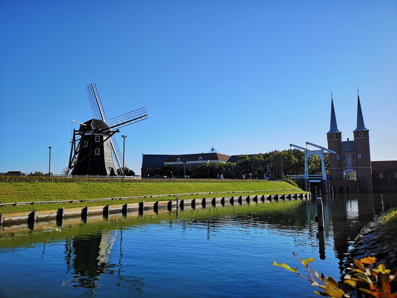
[[[59, 208], [75, 208], [85, 206], [100, 206], [141, 201], [169, 201], [175, 200], [175, 195], [205, 193], [179, 196], [179, 199], [194, 199], [215, 196], [240, 196], [230, 193], [216, 195], [223, 192], [250, 192], [249, 195], [270, 195], [304, 193], [301, 189], [284, 181], [264, 180], [136, 180], [125, 183], [90, 183], [90, 182], [0, 182], [1, 203], [39, 202], [85, 200], [74, 203], [29, 204], [21, 206], [0, 206], [0, 213], [16, 213], [39, 210], [54, 210]], [[167, 197], [155, 197], [168, 195]], [[248, 193], [247, 193], [248, 195]], [[118, 199], [146, 196], [145, 198]], [[112, 201], [89, 202], [86, 200], [117, 198]]]

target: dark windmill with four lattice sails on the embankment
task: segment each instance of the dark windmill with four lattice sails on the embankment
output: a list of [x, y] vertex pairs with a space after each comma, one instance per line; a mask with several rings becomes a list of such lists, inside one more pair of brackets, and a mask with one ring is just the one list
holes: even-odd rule
[[[64, 175], [115, 175], [121, 174], [123, 154], [115, 134], [119, 128], [147, 119], [145, 107], [110, 119], [106, 118], [95, 83], [85, 87], [94, 119], [80, 123], [79, 130], [73, 130], [69, 164]], [[113, 156], [113, 157], [112, 157]], [[115, 169], [115, 163], [117, 170]]]

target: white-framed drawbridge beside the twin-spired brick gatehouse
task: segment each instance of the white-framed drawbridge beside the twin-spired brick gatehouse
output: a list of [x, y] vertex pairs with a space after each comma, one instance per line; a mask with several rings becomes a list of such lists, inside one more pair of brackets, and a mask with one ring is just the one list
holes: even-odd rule
[[[300, 147], [297, 145], [289, 144], [290, 147], [295, 147], [295, 148], [301, 149], [305, 152], [305, 173], [303, 175], [291, 175], [291, 176], [289, 176], [289, 178], [305, 179], [305, 180], [309, 180], [310, 182], [321, 182], [323, 180], [327, 180], [326, 167], [325, 167], [325, 162], [324, 162], [324, 154], [325, 154], [325, 152], [336, 154], [336, 152], [332, 151], [330, 149], [327, 149], [325, 147], [306, 142], [306, 147], [308, 145], [316, 147], [316, 148], [318, 148], [318, 150], [310, 150], [310, 149], [303, 148], [303, 147]], [[313, 154], [320, 156], [321, 171], [322, 171], [321, 175], [309, 175], [307, 160], [308, 160], [309, 156], [313, 155]]]

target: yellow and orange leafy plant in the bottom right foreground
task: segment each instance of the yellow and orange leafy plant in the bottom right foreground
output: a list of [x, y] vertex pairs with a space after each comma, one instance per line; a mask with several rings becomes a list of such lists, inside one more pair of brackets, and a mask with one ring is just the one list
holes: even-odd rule
[[[334, 298], [348, 298], [349, 294], [344, 293], [342, 289], [339, 288], [339, 284], [331, 276], [326, 277], [323, 273], [320, 275], [316, 269], [313, 271], [309, 268], [309, 263], [314, 261], [314, 258], [302, 259], [293, 253], [293, 255], [305, 266], [309, 272], [310, 278], [298, 273], [298, 268], [291, 268], [287, 264], [273, 263], [273, 266], [282, 267], [293, 273], [296, 273], [300, 277], [306, 279], [312, 283], [312, 286], [319, 287], [323, 291], [317, 292], [315, 294], [334, 297]], [[346, 274], [344, 285], [353, 287], [358, 294], [362, 294], [365, 297], [374, 298], [397, 298], [397, 292], [391, 293], [390, 283], [396, 281], [397, 271], [394, 275], [390, 274], [390, 270], [386, 269], [383, 264], [380, 264], [377, 268], [373, 268], [372, 265], [375, 264], [375, 257], [366, 257], [360, 260], [354, 260], [352, 264], [354, 268], [348, 268], [352, 270], [352, 275]], [[369, 268], [365, 268], [365, 265], [369, 265]], [[321, 283], [319, 283], [321, 282]]]

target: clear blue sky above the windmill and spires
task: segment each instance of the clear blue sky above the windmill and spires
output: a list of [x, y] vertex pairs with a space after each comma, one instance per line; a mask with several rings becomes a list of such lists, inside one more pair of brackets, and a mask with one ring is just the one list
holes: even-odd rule
[[0, 1], [0, 172], [61, 173], [95, 82], [141, 154], [327, 147], [331, 90], [353, 139], [357, 86], [372, 160], [397, 159], [397, 1]]

